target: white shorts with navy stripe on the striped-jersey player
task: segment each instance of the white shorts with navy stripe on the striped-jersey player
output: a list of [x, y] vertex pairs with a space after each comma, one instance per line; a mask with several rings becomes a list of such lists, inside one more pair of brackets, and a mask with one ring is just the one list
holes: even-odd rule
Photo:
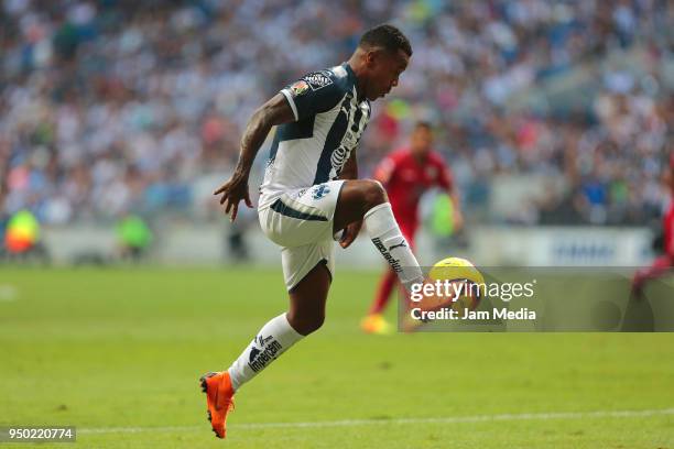
[[333, 276], [333, 219], [343, 185], [344, 180], [330, 180], [289, 190], [258, 210], [262, 231], [281, 247], [283, 277], [289, 292], [320, 262]]

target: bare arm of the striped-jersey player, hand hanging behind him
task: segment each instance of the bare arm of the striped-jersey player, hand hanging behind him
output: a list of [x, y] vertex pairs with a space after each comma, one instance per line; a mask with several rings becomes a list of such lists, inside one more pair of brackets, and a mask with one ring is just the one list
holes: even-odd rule
[[248, 207], [252, 207], [248, 191], [248, 177], [250, 168], [256, 160], [256, 155], [264, 143], [272, 127], [289, 123], [295, 120], [293, 110], [285, 96], [276, 94], [269, 101], [262, 105], [248, 121], [243, 136], [241, 138], [241, 151], [239, 162], [231, 178], [214, 191], [214, 195], [222, 195], [220, 205], [225, 206], [225, 213], [231, 211], [230, 220], [237, 218], [239, 201], [244, 200]]

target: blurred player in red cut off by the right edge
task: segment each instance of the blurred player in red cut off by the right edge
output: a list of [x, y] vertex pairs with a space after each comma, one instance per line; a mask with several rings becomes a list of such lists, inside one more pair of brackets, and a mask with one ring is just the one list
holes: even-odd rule
[[664, 182], [668, 185], [672, 199], [670, 208], [662, 221], [664, 237], [664, 254], [656, 258], [651, 266], [639, 270], [632, 280], [632, 296], [641, 299], [643, 295], [643, 286], [649, 280], [654, 280], [672, 273], [674, 269], [674, 153], [670, 156], [670, 169], [665, 173]]

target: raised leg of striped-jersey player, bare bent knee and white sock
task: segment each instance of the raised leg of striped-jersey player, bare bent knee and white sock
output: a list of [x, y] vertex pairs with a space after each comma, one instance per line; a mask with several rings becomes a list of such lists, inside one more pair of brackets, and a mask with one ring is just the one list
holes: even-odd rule
[[344, 183], [333, 230], [337, 232], [358, 220], [365, 221], [372, 243], [406, 289], [410, 289], [412, 284], [423, 282], [418, 262], [393, 217], [387, 193], [380, 183], [371, 179]]

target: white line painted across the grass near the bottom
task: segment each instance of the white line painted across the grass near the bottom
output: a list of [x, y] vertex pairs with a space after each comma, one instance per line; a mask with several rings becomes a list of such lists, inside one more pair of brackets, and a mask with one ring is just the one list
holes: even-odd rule
[[[646, 410], [600, 410], [600, 412], [551, 412], [551, 413], [521, 413], [503, 415], [478, 415], [478, 416], [447, 416], [438, 418], [381, 418], [381, 419], [341, 419], [330, 421], [305, 421], [305, 423], [241, 423], [230, 424], [228, 429], [274, 429], [274, 428], [322, 428], [322, 427], [352, 427], [370, 426], [381, 424], [456, 424], [456, 423], [489, 423], [509, 420], [547, 420], [547, 419], [588, 419], [588, 418], [634, 418], [643, 416], [674, 415], [674, 408], [646, 409]], [[78, 429], [78, 434], [138, 434], [142, 431], [189, 431], [208, 429], [203, 426], [173, 426], [173, 427], [102, 427]]]

